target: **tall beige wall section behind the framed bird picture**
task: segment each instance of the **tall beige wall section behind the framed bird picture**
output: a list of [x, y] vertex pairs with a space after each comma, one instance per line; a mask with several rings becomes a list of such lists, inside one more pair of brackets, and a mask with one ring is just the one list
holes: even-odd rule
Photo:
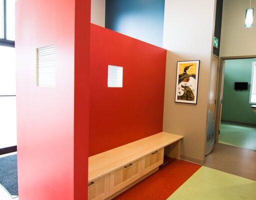
[[[165, 0], [163, 131], [183, 135], [181, 158], [198, 163], [204, 159], [214, 13], [215, 0]], [[175, 103], [176, 62], [195, 59], [200, 60], [197, 104]]]

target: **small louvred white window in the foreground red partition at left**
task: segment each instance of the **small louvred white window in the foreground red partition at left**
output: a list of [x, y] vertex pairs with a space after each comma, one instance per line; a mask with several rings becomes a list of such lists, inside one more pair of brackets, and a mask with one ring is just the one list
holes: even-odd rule
[[56, 52], [55, 45], [37, 48], [37, 86], [55, 87]]

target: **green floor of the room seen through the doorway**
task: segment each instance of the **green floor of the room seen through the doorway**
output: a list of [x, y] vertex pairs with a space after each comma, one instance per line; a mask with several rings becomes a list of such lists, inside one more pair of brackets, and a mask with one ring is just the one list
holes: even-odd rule
[[221, 122], [219, 143], [256, 150], [256, 127]]

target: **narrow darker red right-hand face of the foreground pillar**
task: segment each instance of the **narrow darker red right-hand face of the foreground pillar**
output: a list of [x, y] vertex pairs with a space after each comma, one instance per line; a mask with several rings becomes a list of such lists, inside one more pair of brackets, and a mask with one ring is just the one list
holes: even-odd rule
[[[74, 199], [87, 199], [89, 134], [90, 3], [75, 0]], [[69, 200], [68, 198], [64, 198]]]

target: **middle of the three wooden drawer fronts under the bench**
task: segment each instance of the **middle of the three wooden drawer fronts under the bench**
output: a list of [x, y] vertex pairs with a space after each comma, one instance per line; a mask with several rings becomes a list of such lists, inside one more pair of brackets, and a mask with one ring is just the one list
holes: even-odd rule
[[134, 161], [110, 173], [110, 195], [140, 177], [141, 160]]

